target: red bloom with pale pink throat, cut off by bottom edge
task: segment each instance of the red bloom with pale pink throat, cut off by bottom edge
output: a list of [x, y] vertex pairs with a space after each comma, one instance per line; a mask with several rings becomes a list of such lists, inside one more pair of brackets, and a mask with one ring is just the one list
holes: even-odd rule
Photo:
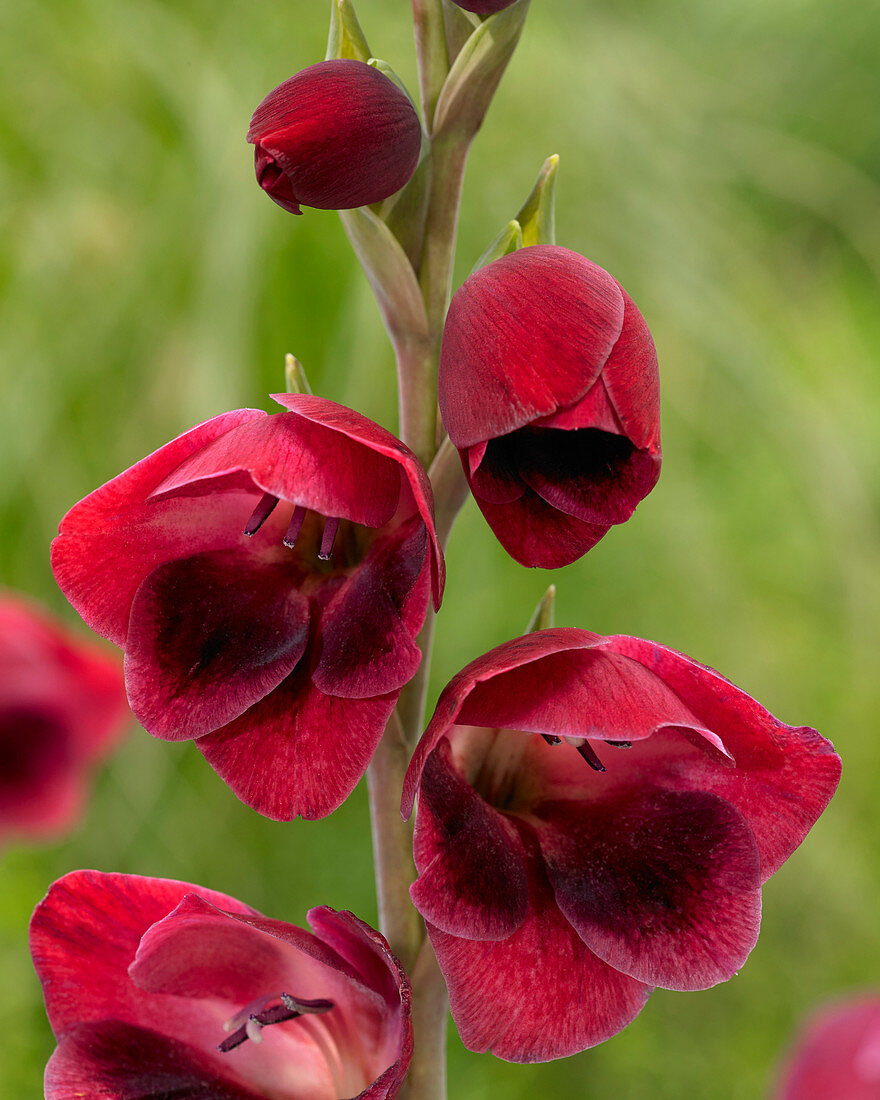
[[168, 879], [73, 871], [31, 921], [58, 1046], [47, 1100], [386, 1100], [413, 1052], [383, 937], [321, 906], [312, 932]]

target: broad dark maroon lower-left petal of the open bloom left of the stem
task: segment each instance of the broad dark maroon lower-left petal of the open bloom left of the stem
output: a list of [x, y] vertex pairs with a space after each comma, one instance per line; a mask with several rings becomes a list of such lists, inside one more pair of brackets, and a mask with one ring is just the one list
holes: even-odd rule
[[223, 550], [160, 565], [132, 604], [132, 710], [169, 740], [218, 729], [293, 671], [308, 627], [308, 598], [280, 564]]

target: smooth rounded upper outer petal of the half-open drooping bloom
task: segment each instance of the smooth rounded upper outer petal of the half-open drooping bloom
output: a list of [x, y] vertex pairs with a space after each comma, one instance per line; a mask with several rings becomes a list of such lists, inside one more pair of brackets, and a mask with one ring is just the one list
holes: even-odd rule
[[452, 442], [506, 436], [573, 405], [600, 376], [623, 322], [618, 284], [569, 249], [535, 245], [475, 272], [452, 299], [440, 353]]

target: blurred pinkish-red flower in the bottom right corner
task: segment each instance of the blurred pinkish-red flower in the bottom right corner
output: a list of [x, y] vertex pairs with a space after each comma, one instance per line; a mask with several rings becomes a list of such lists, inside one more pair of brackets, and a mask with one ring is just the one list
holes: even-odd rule
[[778, 1100], [880, 1097], [880, 993], [853, 997], [816, 1013], [791, 1052]]

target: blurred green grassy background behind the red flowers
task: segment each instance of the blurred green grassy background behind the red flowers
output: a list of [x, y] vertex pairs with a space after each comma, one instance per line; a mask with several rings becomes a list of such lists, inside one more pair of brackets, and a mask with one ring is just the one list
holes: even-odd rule
[[[408, 4], [359, 12], [415, 90]], [[336, 215], [274, 206], [243, 140], [324, 42], [317, 0], [0, 3], [0, 580], [72, 624], [47, 565], [62, 514], [191, 424], [267, 407], [285, 352], [395, 427], [391, 354]], [[831, 737], [844, 780], [766, 888], [739, 977], [660, 991], [556, 1064], [453, 1035], [455, 1100], [750, 1100], [814, 1002], [880, 982], [878, 102], [865, 0], [535, 0], [473, 150], [457, 282], [559, 153], [560, 243], [609, 268], [654, 334], [663, 474], [552, 576], [515, 565], [469, 506], [432, 697], [554, 580], [561, 625], [712, 664]], [[40, 1096], [53, 1047], [24, 938], [53, 879], [167, 876], [295, 922], [319, 903], [374, 922], [365, 822], [361, 789], [326, 822], [263, 821], [190, 746], [132, 732], [73, 835], [0, 857], [0, 1096]]]

